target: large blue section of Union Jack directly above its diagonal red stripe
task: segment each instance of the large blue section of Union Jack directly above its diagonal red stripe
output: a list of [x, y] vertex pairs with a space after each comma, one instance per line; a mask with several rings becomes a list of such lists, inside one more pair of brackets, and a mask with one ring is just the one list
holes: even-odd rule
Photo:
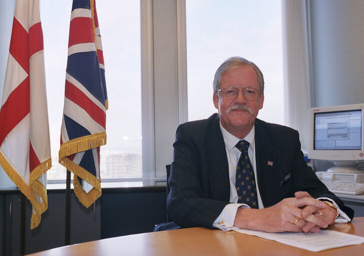
[[96, 51], [74, 53], [70, 55], [67, 61], [67, 73], [79, 81], [105, 106], [105, 71], [104, 81], [102, 81], [101, 69]]

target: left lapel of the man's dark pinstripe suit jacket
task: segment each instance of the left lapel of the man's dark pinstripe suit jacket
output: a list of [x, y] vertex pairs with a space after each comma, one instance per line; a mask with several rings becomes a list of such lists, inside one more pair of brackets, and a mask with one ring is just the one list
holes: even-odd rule
[[206, 137], [210, 186], [215, 200], [230, 200], [229, 167], [218, 116], [212, 119]]

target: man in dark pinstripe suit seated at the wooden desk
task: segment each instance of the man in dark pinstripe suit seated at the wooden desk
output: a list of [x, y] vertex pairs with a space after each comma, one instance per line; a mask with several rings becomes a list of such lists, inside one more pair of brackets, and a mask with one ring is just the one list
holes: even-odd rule
[[226, 60], [213, 89], [218, 114], [176, 132], [167, 213], [177, 225], [318, 232], [351, 221], [353, 210], [307, 166], [298, 132], [256, 118], [264, 79], [255, 64]]

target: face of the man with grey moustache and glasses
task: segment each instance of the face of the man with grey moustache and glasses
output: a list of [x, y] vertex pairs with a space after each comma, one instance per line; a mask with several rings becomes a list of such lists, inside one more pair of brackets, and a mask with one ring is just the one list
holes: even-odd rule
[[[226, 71], [221, 76], [219, 89], [225, 87], [255, 88], [260, 91], [258, 74], [250, 65], [242, 65]], [[221, 91], [219, 95], [214, 93], [213, 101], [215, 108], [219, 110], [221, 125], [232, 135], [240, 139], [244, 138], [252, 129], [255, 118], [263, 107], [264, 95], [261, 94], [259, 99], [255, 101], [246, 100], [242, 91], [239, 91], [234, 100], [224, 99]], [[246, 106], [250, 110], [231, 110], [231, 108], [239, 106]]]

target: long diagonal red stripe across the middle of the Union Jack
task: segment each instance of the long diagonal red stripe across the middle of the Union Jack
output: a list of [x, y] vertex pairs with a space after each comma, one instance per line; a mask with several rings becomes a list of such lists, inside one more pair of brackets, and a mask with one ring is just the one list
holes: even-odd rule
[[80, 89], [66, 80], [65, 96], [83, 108], [97, 123], [106, 127], [106, 114]]

